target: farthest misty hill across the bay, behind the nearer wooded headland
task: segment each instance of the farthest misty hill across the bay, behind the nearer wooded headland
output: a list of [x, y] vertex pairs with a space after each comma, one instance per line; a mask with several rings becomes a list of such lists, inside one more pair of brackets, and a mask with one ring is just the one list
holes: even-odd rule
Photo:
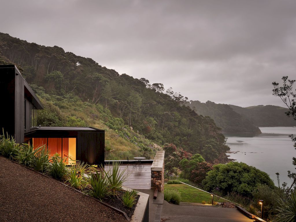
[[245, 108], [234, 105], [229, 106], [235, 112], [249, 119], [255, 126], [295, 126], [295, 121], [293, 121], [293, 118], [289, 118], [285, 114], [288, 109], [284, 107], [273, 105], [259, 105]]

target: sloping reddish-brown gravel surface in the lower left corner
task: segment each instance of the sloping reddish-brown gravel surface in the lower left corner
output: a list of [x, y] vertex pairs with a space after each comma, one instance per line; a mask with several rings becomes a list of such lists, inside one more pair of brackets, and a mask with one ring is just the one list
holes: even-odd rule
[[126, 218], [53, 179], [0, 156], [0, 221], [126, 222]]

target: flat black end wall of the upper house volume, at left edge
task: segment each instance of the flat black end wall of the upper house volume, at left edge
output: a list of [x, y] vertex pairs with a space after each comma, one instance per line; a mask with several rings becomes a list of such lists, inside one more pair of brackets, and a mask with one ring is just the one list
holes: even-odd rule
[[15, 68], [0, 68], [1, 121], [2, 128], [15, 136]]

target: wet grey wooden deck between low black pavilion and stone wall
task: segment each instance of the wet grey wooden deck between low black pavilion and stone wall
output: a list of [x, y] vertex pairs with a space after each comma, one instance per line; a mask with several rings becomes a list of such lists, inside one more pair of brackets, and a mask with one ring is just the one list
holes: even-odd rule
[[[127, 180], [123, 183], [131, 189], [150, 189], [151, 188], [151, 163], [144, 163], [144, 167], [135, 167], [133, 165], [120, 165], [120, 172], [126, 168], [124, 175], [128, 175]], [[110, 165], [112, 170], [112, 165]], [[105, 165], [105, 170], [109, 170], [109, 166]]]

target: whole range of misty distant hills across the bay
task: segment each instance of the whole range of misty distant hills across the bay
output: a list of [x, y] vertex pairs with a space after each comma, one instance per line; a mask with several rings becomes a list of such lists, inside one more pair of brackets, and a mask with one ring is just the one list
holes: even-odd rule
[[258, 127], [294, 126], [293, 119], [285, 114], [287, 108], [273, 105], [239, 107], [228, 104], [216, 104], [211, 101], [186, 103], [196, 113], [210, 116], [223, 132], [261, 133]]

